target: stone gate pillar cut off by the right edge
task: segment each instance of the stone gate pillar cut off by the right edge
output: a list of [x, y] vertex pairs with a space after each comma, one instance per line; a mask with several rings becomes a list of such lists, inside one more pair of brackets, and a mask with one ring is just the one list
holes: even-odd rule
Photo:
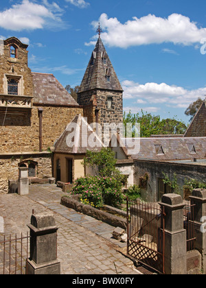
[[195, 248], [202, 255], [202, 266], [206, 274], [206, 189], [194, 189], [190, 196], [191, 204], [194, 204], [194, 237]]

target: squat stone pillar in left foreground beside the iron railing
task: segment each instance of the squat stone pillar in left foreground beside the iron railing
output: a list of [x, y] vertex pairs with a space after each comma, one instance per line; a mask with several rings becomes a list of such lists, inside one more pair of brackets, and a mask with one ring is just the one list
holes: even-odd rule
[[52, 214], [33, 214], [30, 228], [30, 259], [27, 274], [60, 274], [57, 260], [57, 230]]

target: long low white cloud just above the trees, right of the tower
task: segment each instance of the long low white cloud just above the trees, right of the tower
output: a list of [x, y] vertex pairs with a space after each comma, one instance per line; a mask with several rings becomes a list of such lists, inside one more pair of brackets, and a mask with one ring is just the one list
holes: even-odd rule
[[206, 95], [206, 87], [187, 90], [165, 83], [139, 84], [126, 80], [122, 82], [122, 88], [124, 99], [133, 99], [134, 104], [165, 104], [174, 108], [187, 108], [198, 97], [205, 99]]

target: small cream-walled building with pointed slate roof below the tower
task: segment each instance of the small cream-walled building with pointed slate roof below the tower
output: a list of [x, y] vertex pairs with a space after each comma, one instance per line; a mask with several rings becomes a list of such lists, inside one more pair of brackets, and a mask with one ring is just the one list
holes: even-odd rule
[[[95, 144], [94, 144], [95, 143]], [[100, 152], [104, 144], [82, 115], [77, 115], [67, 125], [54, 145], [54, 177], [56, 181], [73, 183], [93, 169], [82, 165], [87, 150]]]

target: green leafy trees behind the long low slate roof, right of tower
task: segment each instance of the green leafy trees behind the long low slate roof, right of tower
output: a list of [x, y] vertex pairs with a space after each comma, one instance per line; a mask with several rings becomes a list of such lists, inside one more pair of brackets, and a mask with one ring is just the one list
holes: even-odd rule
[[[140, 137], [150, 137], [151, 135], [157, 134], [183, 134], [187, 129], [187, 125], [183, 123], [183, 121], [179, 121], [177, 119], [162, 119], [159, 115], [151, 115], [150, 113], [144, 113], [141, 110], [141, 114], [132, 114], [129, 112], [126, 114], [124, 112], [124, 125], [126, 127], [126, 123], [140, 123]], [[135, 136], [135, 132], [132, 132], [133, 137]]]

